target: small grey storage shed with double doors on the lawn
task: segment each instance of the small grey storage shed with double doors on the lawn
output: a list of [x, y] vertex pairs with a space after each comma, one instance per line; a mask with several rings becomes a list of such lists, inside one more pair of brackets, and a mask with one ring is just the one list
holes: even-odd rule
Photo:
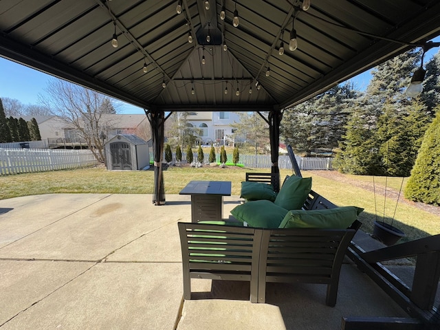
[[117, 134], [105, 143], [107, 170], [142, 170], [150, 167], [148, 142], [133, 134]]

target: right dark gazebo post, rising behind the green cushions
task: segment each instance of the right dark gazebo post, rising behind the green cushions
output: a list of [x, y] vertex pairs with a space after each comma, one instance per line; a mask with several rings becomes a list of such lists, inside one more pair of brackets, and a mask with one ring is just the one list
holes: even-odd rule
[[278, 168], [278, 148], [280, 145], [280, 124], [283, 113], [278, 107], [269, 112], [269, 135], [270, 135], [270, 158], [272, 162], [272, 186], [278, 192], [280, 190], [280, 168]]

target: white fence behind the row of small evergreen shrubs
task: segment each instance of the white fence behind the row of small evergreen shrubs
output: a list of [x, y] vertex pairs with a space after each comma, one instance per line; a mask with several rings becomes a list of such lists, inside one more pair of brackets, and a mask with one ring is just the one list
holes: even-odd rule
[[[194, 162], [199, 162], [197, 153], [193, 153]], [[150, 155], [153, 159], [153, 154]], [[332, 157], [299, 157], [295, 156], [296, 162], [300, 170], [332, 170]], [[164, 155], [165, 159], [165, 155]], [[204, 153], [203, 163], [208, 164], [209, 153]], [[176, 160], [176, 155], [173, 153], [173, 162]], [[182, 153], [182, 160], [186, 162], [186, 153]], [[217, 162], [219, 162], [219, 155], [217, 155]], [[232, 162], [232, 155], [228, 155], [228, 162]], [[239, 164], [250, 168], [271, 168], [272, 161], [270, 155], [240, 155]], [[288, 155], [280, 155], [278, 157], [278, 167], [290, 170], [292, 169], [292, 162]]]

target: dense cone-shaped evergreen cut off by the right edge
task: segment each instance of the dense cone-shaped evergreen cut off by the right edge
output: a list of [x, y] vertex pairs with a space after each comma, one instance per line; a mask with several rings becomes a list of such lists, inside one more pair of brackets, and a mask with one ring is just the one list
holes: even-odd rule
[[404, 191], [412, 201], [440, 206], [440, 106], [423, 137], [419, 154]]

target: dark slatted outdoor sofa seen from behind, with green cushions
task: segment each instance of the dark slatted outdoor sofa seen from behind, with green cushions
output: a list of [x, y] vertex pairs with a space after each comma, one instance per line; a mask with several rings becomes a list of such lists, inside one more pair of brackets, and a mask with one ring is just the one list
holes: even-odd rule
[[[289, 180], [280, 193], [287, 184], [292, 185]], [[281, 211], [270, 210], [278, 209], [271, 206], [273, 201], [253, 200], [234, 209], [242, 212], [232, 210], [238, 217], [235, 222], [179, 222], [184, 298], [191, 298], [191, 278], [248, 281], [252, 303], [265, 303], [266, 283], [302, 282], [326, 284], [326, 303], [334, 306], [342, 261], [360, 228], [357, 217], [362, 209], [338, 208], [307, 188], [307, 181], [302, 181], [306, 182], [305, 191], [308, 189], [303, 203], [299, 209], [285, 210], [284, 216]], [[263, 214], [252, 223], [252, 218], [258, 218], [256, 214], [265, 209], [269, 215]], [[240, 219], [246, 210], [254, 210], [250, 212], [253, 215]], [[267, 223], [263, 223], [264, 218]]]

